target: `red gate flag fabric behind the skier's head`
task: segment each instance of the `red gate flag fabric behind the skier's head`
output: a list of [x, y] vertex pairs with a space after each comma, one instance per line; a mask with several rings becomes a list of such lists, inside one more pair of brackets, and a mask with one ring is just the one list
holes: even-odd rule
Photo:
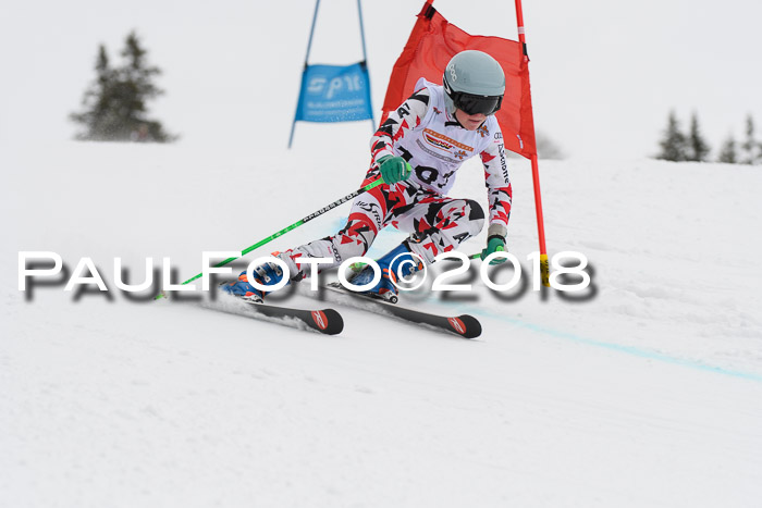
[[468, 35], [448, 23], [430, 2], [423, 4], [405, 49], [394, 64], [381, 123], [413, 95], [418, 78], [441, 84], [450, 59], [466, 49], [490, 54], [500, 62], [505, 73], [503, 106], [495, 115], [503, 129], [505, 149], [526, 158], [537, 154], [527, 65], [529, 59], [524, 54], [523, 45], [500, 37]]

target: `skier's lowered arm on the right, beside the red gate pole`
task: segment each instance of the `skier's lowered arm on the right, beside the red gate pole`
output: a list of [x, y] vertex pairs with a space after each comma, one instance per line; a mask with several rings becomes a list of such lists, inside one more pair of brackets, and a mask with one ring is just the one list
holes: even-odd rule
[[[490, 203], [490, 225], [487, 230], [488, 249], [486, 250], [495, 251], [499, 245], [505, 246], [513, 197], [502, 133], [494, 134], [493, 141], [480, 153], [480, 157], [484, 164], [484, 181]], [[482, 259], [487, 253], [482, 255]]]

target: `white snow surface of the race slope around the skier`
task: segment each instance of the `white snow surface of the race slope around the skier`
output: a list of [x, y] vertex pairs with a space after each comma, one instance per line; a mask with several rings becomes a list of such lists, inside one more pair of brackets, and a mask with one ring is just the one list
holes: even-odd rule
[[[329, 337], [115, 289], [114, 257], [135, 280], [170, 257], [184, 280], [202, 251], [351, 193], [367, 162], [366, 146], [0, 147], [0, 506], [761, 506], [759, 168], [541, 161], [549, 251], [593, 269], [573, 301], [531, 289], [531, 173], [512, 160], [508, 246], [529, 286], [408, 298], [478, 317], [476, 340], [333, 305], [345, 329]], [[452, 195], [487, 205], [478, 163]], [[91, 258], [110, 299], [59, 284], [27, 300], [22, 250]], [[302, 286], [290, 303], [317, 305]]]

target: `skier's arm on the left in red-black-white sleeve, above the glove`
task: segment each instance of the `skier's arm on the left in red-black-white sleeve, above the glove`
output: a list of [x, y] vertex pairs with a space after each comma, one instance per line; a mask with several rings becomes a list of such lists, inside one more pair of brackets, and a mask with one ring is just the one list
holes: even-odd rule
[[389, 113], [386, 121], [370, 138], [371, 168], [384, 156], [394, 156], [394, 144], [417, 128], [429, 111], [429, 90], [422, 88], [410, 96], [400, 108]]

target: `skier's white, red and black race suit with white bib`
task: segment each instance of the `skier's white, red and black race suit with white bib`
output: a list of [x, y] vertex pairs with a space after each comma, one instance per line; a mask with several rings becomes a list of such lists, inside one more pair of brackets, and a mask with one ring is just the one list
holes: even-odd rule
[[359, 195], [347, 224], [339, 233], [283, 252], [281, 259], [290, 265], [292, 278], [303, 278], [305, 272], [294, 259], [330, 258], [337, 265], [365, 255], [379, 231], [388, 225], [409, 232], [410, 249], [429, 263], [439, 253], [477, 235], [484, 224], [479, 203], [445, 196], [463, 162], [476, 156], [484, 165], [489, 233], [505, 236], [512, 189], [503, 135], [493, 115], [476, 131], [464, 128], [446, 111], [443, 87], [421, 78], [413, 96], [391, 112], [376, 132], [370, 149], [372, 160], [364, 186], [380, 176], [377, 161], [388, 154], [400, 156], [410, 164], [410, 178], [382, 184]]

